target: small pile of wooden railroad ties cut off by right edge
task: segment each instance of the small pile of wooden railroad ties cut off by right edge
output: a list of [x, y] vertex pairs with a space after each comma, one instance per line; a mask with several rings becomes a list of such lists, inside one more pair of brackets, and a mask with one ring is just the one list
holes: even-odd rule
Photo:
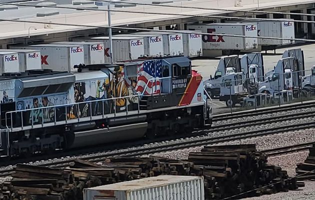
[[315, 180], [315, 143], [308, 150], [304, 162], [296, 164], [295, 172], [298, 180]]

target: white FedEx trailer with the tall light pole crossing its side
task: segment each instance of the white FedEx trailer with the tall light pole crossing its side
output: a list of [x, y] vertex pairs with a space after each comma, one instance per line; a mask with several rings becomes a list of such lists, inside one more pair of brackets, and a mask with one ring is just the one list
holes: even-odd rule
[[[105, 48], [105, 62], [110, 62], [109, 37], [92, 37], [84, 41], [102, 41]], [[137, 59], [144, 55], [143, 37], [112, 36], [113, 62]]]

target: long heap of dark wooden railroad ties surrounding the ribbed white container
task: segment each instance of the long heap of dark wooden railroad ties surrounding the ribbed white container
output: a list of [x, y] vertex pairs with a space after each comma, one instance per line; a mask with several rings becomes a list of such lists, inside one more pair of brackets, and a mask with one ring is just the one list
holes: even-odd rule
[[86, 187], [161, 174], [203, 175], [208, 200], [256, 188], [235, 198], [297, 188], [296, 180], [289, 179], [286, 171], [266, 162], [264, 154], [249, 144], [205, 146], [201, 152], [190, 152], [188, 160], [120, 157], [95, 164], [78, 159], [63, 169], [17, 164], [13, 179], [0, 185], [0, 200], [82, 199]]

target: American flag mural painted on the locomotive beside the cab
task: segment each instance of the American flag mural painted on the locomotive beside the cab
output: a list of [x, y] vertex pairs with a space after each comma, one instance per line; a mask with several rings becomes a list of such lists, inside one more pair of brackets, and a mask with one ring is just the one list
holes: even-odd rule
[[[162, 77], [162, 60], [147, 60], [138, 65], [138, 81], [135, 87], [136, 91], [143, 92], [144, 94], [160, 93], [159, 77]], [[149, 79], [154, 80], [149, 81]], [[148, 82], [148, 83], [147, 83]]]

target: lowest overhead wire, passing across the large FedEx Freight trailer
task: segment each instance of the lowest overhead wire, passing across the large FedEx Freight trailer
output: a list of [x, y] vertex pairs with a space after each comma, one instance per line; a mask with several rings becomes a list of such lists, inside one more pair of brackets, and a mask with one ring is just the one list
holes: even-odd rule
[[[151, 32], [169, 32], [169, 33], [183, 33], [183, 34], [195, 33], [195, 34], [213, 35], [213, 36], [215, 36], [215, 35], [222, 35], [222, 36], [231, 36], [231, 37], [261, 38], [261, 39], [280, 39], [280, 40], [296, 40], [296, 41], [315, 42], [314, 39], [285, 38], [285, 37], [265, 37], [265, 36], [248, 36], [248, 35], [221, 34], [221, 33], [204, 33], [204, 32], [191, 32], [191, 31], [187, 31], [187, 30], [152, 30], [152, 29], [147, 29], [147, 28], [133, 28], [133, 27], [121, 27], [121, 26], [96, 26], [96, 25], [86, 25], [86, 24], [56, 23], [56, 22], [43, 22], [43, 21], [17, 20], [17, 19], [0, 19], [0, 21], [39, 23], [39, 24], [52, 24], [52, 25], [65, 25], [65, 26], [90, 27], [90, 28], [113, 28], [113, 29], [126, 29], [126, 30], [143, 30], [143, 31], [151, 31]], [[46, 33], [43, 32], [42, 34], [46, 34]]]

